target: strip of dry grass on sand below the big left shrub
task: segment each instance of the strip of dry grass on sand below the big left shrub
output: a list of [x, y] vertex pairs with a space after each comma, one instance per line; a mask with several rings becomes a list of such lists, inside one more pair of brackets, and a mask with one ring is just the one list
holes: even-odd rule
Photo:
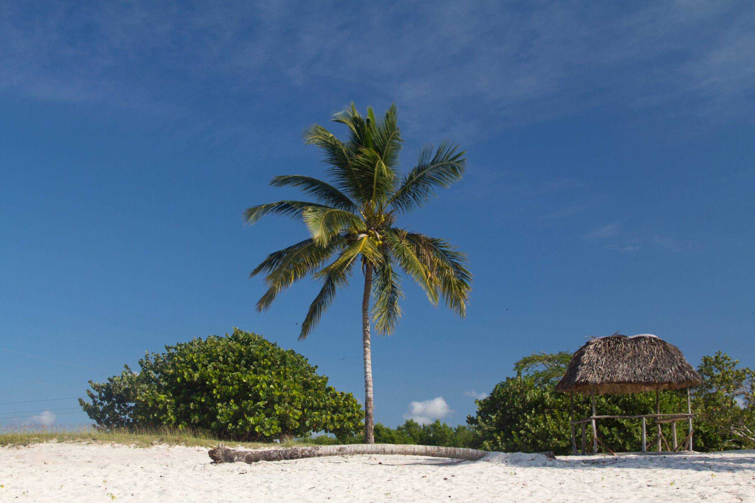
[[[0, 430], [0, 446], [2, 447], [29, 446], [46, 442], [121, 444], [142, 448], [156, 445], [214, 447], [221, 441], [203, 431], [172, 428], [100, 431], [83, 425], [81, 427], [3, 427]], [[225, 443], [229, 446], [242, 446], [245, 449], [313, 445], [297, 440], [285, 443], [235, 443], [232, 441], [225, 441]]]

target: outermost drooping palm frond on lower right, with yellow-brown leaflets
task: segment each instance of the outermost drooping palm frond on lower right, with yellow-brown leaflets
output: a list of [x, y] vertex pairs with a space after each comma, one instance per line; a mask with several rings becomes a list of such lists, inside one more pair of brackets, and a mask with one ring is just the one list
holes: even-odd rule
[[433, 263], [433, 282], [438, 285], [445, 305], [462, 318], [467, 314], [467, 304], [472, 291], [472, 273], [467, 268], [467, 254], [459, 252], [445, 239], [433, 238], [420, 233], [406, 233], [415, 253]]

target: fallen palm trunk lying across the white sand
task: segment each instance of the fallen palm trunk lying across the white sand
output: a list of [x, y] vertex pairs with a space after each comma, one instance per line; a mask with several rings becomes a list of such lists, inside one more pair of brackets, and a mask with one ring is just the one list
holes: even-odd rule
[[[257, 461], [283, 461], [288, 459], [357, 454], [400, 454], [430, 456], [432, 458], [466, 459], [473, 461], [482, 458], [488, 454], [488, 452], [477, 449], [463, 449], [461, 447], [407, 446], [392, 443], [356, 443], [347, 446], [291, 447], [288, 449], [266, 449], [261, 451], [237, 451], [236, 449], [228, 449], [226, 446], [223, 446], [223, 444], [220, 444], [214, 449], [210, 449], [209, 452], [210, 458], [216, 463], [243, 461], [250, 464]], [[538, 454], [547, 455], [549, 458], [556, 457], [553, 455], [553, 451], [539, 452]]]

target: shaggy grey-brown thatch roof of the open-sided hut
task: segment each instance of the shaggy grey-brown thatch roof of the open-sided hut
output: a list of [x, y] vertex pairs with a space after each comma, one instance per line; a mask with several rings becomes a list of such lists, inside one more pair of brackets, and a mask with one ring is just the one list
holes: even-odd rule
[[580, 347], [556, 385], [575, 393], [637, 393], [700, 384], [678, 347], [655, 335], [609, 335]]

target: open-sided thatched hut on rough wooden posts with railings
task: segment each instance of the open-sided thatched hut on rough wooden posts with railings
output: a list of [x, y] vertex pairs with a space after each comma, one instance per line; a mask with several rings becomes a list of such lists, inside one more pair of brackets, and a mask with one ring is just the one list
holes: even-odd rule
[[[572, 399], [572, 450], [576, 454], [575, 426], [582, 425], [582, 452], [584, 453], [585, 426], [593, 425], [593, 452], [601, 443], [596, 435], [595, 420], [599, 418], [642, 418], [643, 452], [646, 452], [646, 418], [657, 424], [658, 451], [661, 451], [661, 423], [670, 422], [673, 427], [673, 450], [677, 449], [676, 421], [689, 422], [689, 435], [683, 445], [692, 450], [692, 409], [689, 405], [689, 387], [700, 384], [701, 378], [695, 369], [684, 359], [678, 347], [663, 341], [652, 334], [619, 335], [593, 338], [580, 347], [572, 357], [566, 372], [556, 385], [562, 393], [590, 394], [593, 402], [593, 415], [578, 421], [574, 420]], [[687, 412], [661, 414], [658, 391], [687, 388]], [[596, 415], [595, 394], [638, 393], [655, 391], [655, 414], [641, 416]], [[606, 449], [610, 449], [604, 445]], [[668, 448], [668, 445], [667, 445]]]

